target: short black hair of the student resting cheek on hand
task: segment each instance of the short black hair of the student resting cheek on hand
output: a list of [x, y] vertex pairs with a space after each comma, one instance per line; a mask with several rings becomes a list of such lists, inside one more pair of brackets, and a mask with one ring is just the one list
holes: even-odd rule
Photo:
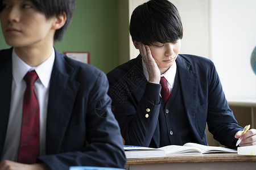
[[183, 37], [183, 26], [177, 8], [167, 0], [150, 0], [131, 14], [130, 35], [133, 41], [176, 42]]

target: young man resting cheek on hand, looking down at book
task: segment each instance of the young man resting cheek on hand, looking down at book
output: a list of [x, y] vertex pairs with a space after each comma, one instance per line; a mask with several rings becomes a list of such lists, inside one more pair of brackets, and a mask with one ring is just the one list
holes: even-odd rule
[[[210, 59], [179, 54], [183, 27], [177, 8], [151, 0], [135, 8], [130, 35], [139, 56], [107, 74], [113, 112], [125, 145], [162, 147], [214, 139], [236, 147], [241, 128]], [[161, 89], [162, 88], [162, 89]], [[240, 146], [256, 144], [256, 130]]]

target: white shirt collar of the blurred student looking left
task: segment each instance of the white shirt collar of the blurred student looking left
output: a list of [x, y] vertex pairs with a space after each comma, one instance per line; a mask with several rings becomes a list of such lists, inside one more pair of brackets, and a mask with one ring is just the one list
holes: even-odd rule
[[54, 48], [52, 48], [51, 56], [37, 67], [31, 67], [27, 65], [27, 63], [25, 63], [17, 56], [14, 48], [11, 57], [13, 59], [13, 78], [16, 84], [19, 84], [23, 80], [28, 71], [35, 70], [43, 86], [48, 87], [49, 80], [51, 78], [53, 62], [55, 59]]

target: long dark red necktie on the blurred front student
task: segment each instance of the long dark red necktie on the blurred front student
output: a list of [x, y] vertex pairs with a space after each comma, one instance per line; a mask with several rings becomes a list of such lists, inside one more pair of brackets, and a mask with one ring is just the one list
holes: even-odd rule
[[35, 80], [38, 75], [35, 71], [28, 72], [24, 76], [27, 88], [23, 100], [22, 129], [18, 162], [32, 164], [36, 162], [40, 151], [40, 114], [38, 99], [34, 91]]

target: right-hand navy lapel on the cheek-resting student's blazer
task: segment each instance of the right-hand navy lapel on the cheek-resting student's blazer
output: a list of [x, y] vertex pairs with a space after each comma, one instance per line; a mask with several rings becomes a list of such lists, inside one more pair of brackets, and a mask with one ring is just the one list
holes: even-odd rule
[[[181, 56], [176, 59], [177, 70], [180, 76], [180, 87], [184, 100], [185, 111], [188, 116], [189, 124], [195, 127], [195, 113], [197, 105], [197, 73], [189, 70], [191, 64], [185, 61]], [[200, 138], [199, 134], [192, 128], [195, 135]]]

